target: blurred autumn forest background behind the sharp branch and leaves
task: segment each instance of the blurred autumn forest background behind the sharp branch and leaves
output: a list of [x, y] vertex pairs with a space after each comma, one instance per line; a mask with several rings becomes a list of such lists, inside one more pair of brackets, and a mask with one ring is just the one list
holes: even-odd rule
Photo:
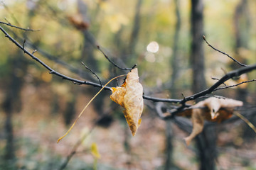
[[[180, 99], [239, 67], [208, 47], [202, 34], [238, 61], [256, 63], [255, 0], [2, 0], [0, 21], [34, 29], [1, 24], [62, 74], [98, 83], [81, 62], [102, 84], [127, 73], [113, 67], [97, 43], [121, 67], [137, 64], [148, 96]], [[48, 74], [3, 33], [0, 39], [0, 169], [256, 169], [256, 135], [244, 122], [216, 123], [203, 132], [209, 141], [200, 145], [194, 140], [186, 147], [188, 132], [161, 120], [155, 103], [144, 100], [142, 125], [132, 137], [110, 91], [102, 91], [56, 144], [99, 89]], [[204, 66], [198, 67], [193, 56], [201, 57]], [[255, 77], [250, 72], [227, 84]], [[243, 101], [243, 113], [256, 112], [255, 86], [252, 82], [214, 94]], [[254, 114], [247, 118], [256, 123]]]

